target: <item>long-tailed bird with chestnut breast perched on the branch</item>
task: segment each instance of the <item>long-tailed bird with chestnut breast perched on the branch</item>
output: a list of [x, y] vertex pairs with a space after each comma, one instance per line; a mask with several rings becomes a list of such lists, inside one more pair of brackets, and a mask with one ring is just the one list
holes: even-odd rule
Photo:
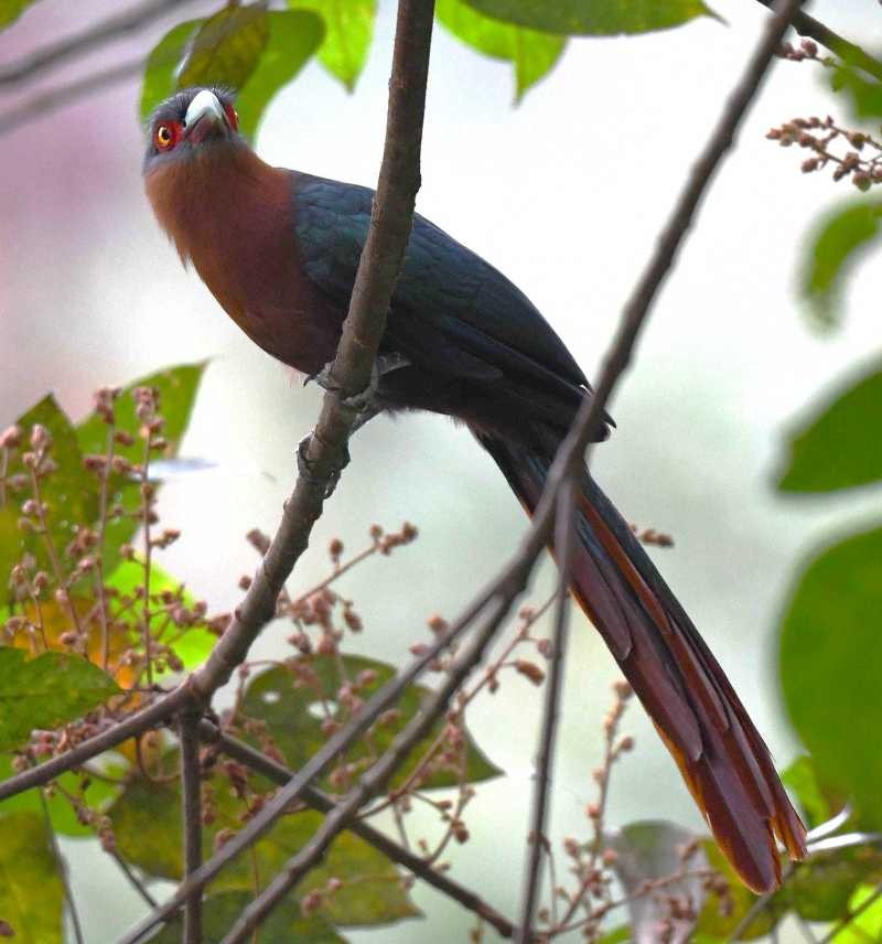
[[[146, 193], [181, 260], [252, 342], [321, 378], [340, 341], [374, 192], [265, 163], [239, 133], [225, 88], [179, 92], [146, 128]], [[529, 299], [419, 214], [377, 364], [366, 416], [452, 417], [528, 513], [591, 396], [588, 378]], [[806, 833], [770, 751], [587, 469], [578, 492], [570, 591], [655, 723], [725, 858], [747, 887], [771, 891], [781, 883], [778, 843], [800, 859]]]

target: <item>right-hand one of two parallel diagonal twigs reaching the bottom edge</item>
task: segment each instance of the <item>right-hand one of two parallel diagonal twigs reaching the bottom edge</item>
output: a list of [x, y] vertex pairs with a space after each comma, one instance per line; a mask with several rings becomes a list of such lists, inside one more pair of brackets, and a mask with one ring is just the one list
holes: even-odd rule
[[346, 828], [358, 809], [383, 790], [410, 751], [447, 711], [452, 696], [481, 662], [496, 630], [508, 614], [512, 602], [502, 598], [495, 603], [484, 625], [475, 630], [469, 647], [453, 664], [438, 691], [428, 699], [422, 710], [410, 719], [386, 753], [362, 776], [358, 784], [327, 814], [310, 841], [286, 862], [282, 871], [267, 889], [245, 909], [220, 944], [241, 944], [256, 927], [259, 927], [276, 905], [322, 859], [336, 836]]

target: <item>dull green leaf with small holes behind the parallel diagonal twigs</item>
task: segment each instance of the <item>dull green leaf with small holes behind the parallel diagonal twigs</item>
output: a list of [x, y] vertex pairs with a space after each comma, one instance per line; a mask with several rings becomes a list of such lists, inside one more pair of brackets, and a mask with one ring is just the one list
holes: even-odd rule
[[[327, 740], [322, 732], [325, 712], [335, 720], [344, 720], [344, 709], [336, 700], [337, 691], [344, 684], [357, 684], [362, 673], [373, 674], [372, 682], [357, 686], [357, 697], [366, 700], [395, 675], [394, 666], [387, 663], [353, 655], [343, 656], [340, 661], [333, 655], [300, 656], [290, 661], [289, 665], [293, 671], [279, 667], [256, 675], [248, 685], [241, 710], [248, 717], [267, 723], [269, 734], [284, 754], [288, 766], [293, 770], [300, 769]], [[345, 677], [341, 674], [341, 666]], [[346, 754], [347, 761], [355, 762], [383, 753], [429, 694], [429, 689], [423, 686], [408, 686], [398, 701], [400, 714], [384, 723], [375, 723]], [[417, 744], [392, 777], [392, 786], [402, 784], [413, 772], [439, 730], [440, 726]], [[499, 770], [484, 757], [467, 732], [465, 749], [466, 781], [476, 783], [499, 774]], [[325, 781], [326, 786], [332, 792], [338, 792], [341, 784], [334, 784], [333, 774], [331, 777]], [[421, 783], [423, 789], [454, 786], [459, 783], [455, 762], [437, 765]]]

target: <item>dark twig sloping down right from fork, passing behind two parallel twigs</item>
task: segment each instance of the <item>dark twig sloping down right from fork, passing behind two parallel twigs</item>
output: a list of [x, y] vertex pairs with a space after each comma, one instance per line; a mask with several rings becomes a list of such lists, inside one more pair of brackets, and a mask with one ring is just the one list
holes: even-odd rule
[[[217, 744], [224, 753], [229, 754], [229, 757], [239, 761], [239, 763], [263, 774], [263, 776], [268, 777], [273, 783], [283, 785], [294, 776], [293, 771], [287, 770], [266, 754], [261, 754], [248, 744], [225, 734], [219, 728], [208, 720], [200, 722], [198, 731], [200, 737], [205, 741]], [[311, 806], [313, 809], [318, 809], [320, 813], [330, 813], [336, 805], [335, 801], [326, 793], [323, 793], [321, 790], [316, 790], [313, 786], [305, 787], [301, 794], [301, 800], [308, 806]], [[373, 826], [369, 826], [361, 819], [354, 819], [346, 828], [351, 833], [354, 833], [356, 836], [364, 839], [366, 843], [369, 843], [387, 858], [398, 862], [399, 866], [404, 866], [404, 868], [408, 869], [408, 871], [412, 872], [417, 878], [422, 879], [427, 884], [432, 886], [432, 888], [437, 889], [442, 894], [458, 901], [463, 905], [463, 908], [466, 908], [469, 911], [473, 911], [475, 914], [483, 918], [492, 924], [503, 937], [508, 938], [514, 934], [514, 925], [512, 922], [499, 914], [477, 894], [459, 884], [459, 882], [453, 881], [453, 879], [449, 878], [443, 872], [439, 872], [427, 866], [422, 858], [415, 855], [409, 849], [404, 848], [404, 846], [399, 846], [397, 843], [394, 843], [388, 838], [388, 836], [380, 833], [379, 829], [375, 829]]]

